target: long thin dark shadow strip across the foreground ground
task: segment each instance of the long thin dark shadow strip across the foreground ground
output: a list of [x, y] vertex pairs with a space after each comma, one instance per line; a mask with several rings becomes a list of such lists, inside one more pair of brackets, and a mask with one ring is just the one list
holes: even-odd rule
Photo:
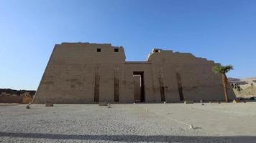
[[75, 134], [42, 134], [42, 133], [14, 133], [0, 132], [0, 137], [22, 137], [29, 139], [77, 139], [101, 140], [115, 142], [255, 142], [252, 136], [229, 137], [189, 137], [189, 136], [142, 136], [142, 135], [75, 135]]

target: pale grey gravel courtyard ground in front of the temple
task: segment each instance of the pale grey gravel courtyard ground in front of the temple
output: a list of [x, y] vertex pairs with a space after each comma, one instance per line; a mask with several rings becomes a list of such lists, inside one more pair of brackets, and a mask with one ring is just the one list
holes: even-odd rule
[[256, 102], [0, 104], [0, 142], [256, 142]]

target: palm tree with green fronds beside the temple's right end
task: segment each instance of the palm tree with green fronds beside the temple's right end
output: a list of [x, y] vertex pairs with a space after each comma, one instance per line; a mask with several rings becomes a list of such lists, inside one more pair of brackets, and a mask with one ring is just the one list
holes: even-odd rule
[[224, 87], [224, 94], [225, 94], [225, 101], [229, 102], [229, 96], [227, 95], [227, 76], [226, 73], [228, 71], [230, 71], [231, 69], [233, 69], [232, 65], [227, 65], [227, 66], [221, 66], [220, 64], [214, 66], [212, 68], [212, 70], [216, 73], [216, 74], [221, 74], [222, 77], [222, 84]]

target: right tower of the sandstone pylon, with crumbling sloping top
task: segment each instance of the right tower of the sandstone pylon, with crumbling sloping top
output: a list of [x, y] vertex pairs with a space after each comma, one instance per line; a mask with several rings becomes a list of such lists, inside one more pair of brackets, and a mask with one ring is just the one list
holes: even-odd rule
[[[212, 71], [214, 61], [197, 58], [189, 53], [162, 50], [152, 51], [148, 61], [152, 62], [154, 74], [158, 75], [158, 80], [165, 88], [167, 101], [224, 100], [221, 76]], [[160, 91], [160, 87], [156, 91]], [[229, 95], [230, 99], [235, 98], [230, 87]]]

